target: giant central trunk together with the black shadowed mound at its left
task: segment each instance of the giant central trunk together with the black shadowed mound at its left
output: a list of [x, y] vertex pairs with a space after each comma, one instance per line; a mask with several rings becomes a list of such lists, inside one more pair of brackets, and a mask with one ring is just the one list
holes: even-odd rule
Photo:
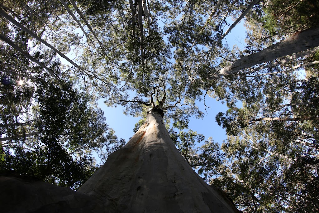
[[77, 191], [34, 180], [0, 177], [4, 212], [239, 212], [222, 190], [207, 185], [175, 148], [152, 109], [145, 123]]

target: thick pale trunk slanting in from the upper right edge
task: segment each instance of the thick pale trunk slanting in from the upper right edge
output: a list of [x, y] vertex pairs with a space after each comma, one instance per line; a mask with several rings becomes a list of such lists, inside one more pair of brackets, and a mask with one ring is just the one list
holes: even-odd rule
[[231, 75], [242, 69], [274, 60], [278, 57], [287, 56], [296, 52], [305, 51], [319, 46], [319, 25], [300, 33], [296, 33], [290, 38], [280, 41], [262, 51], [243, 56], [234, 64], [224, 67], [218, 73], [211, 74], [208, 80], [218, 79], [223, 75]]

